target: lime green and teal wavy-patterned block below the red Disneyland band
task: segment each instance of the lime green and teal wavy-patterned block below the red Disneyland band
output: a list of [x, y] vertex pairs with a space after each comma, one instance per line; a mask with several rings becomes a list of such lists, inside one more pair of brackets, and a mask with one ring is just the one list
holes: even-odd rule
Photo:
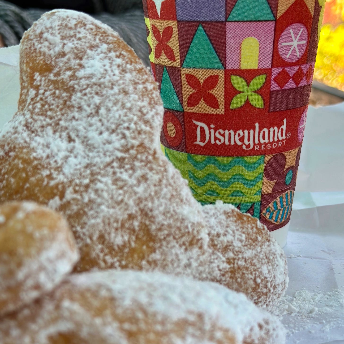
[[172, 164], [189, 181], [194, 197], [203, 204], [222, 200], [259, 218], [264, 155], [212, 157], [178, 152], [162, 146]]

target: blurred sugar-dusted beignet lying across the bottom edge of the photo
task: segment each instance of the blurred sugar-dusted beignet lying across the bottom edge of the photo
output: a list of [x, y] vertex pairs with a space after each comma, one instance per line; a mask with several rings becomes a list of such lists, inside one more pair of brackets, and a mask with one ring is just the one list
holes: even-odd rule
[[[106, 300], [110, 312], [102, 309]], [[25, 323], [31, 314], [34, 318]], [[20, 342], [25, 333], [30, 334], [28, 344], [41, 344], [45, 336], [67, 331], [77, 333], [85, 343], [90, 338], [99, 341], [100, 336], [104, 344], [130, 344], [138, 338], [148, 343], [147, 333], [153, 342], [158, 334], [161, 342], [172, 344], [232, 343], [229, 338], [237, 344], [284, 343], [280, 322], [243, 294], [216, 283], [158, 272], [107, 270], [73, 275], [35, 308], [11, 320], [0, 323], [4, 344]], [[176, 332], [175, 326], [179, 328]], [[136, 332], [141, 332], [139, 337]]]

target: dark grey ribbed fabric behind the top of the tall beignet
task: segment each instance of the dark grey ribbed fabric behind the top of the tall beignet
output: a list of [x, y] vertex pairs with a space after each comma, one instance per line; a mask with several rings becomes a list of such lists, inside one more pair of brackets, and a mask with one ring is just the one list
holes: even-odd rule
[[[149, 66], [146, 24], [141, 0], [92, 0], [95, 13], [92, 17], [109, 25], [130, 45], [141, 60]], [[104, 12], [104, 9], [107, 12]], [[47, 10], [23, 9], [0, 0], [0, 36], [6, 46], [19, 41], [32, 23]]]

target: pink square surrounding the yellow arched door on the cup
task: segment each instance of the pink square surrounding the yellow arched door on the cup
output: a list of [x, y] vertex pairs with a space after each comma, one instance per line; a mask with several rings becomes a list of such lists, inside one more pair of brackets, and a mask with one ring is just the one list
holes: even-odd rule
[[258, 68], [271, 68], [274, 21], [227, 22], [226, 25], [226, 69], [240, 69], [241, 46], [248, 37], [259, 42]]

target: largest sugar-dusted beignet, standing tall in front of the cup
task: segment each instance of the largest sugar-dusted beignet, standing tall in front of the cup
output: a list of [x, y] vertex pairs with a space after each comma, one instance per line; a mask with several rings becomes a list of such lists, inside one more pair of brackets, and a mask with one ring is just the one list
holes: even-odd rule
[[0, 202], [62, 212], [76, 271], [158, 269], [277, 302], [283, 250], [257, 219], [193, 198], [160, 151], [158, 87], [117, 33], [83, 13], [46, 13], [23, 36], [20, 68], [18, 112], [0, 134]]

